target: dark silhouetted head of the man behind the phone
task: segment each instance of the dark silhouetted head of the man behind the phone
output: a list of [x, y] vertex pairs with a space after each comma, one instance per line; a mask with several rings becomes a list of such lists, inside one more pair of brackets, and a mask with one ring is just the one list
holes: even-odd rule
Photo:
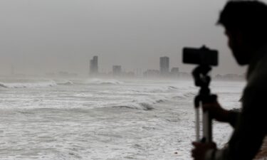
[[229, 1], [221, 11], [219, 24], [225, 27], [229, 48], [240, 65], [267, 43], [267, 6], [259, 1]]

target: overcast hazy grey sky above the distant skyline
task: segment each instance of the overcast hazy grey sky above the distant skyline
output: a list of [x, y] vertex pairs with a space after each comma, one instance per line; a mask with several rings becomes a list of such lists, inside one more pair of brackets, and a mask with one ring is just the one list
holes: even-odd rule
[[170, 57], [182, 71], [184, 46], [203, 44], [220, 52], [216, 73], [244, 73], [216, 26], [226, 1], [215, 0], [1, 0], [0, 75], [60, 70], [88, 73], [98, 55], [100, 70], [158, 69]]

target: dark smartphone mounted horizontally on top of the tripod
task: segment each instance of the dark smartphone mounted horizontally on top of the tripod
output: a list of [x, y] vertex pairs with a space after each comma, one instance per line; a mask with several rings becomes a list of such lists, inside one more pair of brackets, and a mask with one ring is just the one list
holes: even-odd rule
[[183, 48], [183, 63], [196, 65], [218, 65], [218, 50], [201, 48]]

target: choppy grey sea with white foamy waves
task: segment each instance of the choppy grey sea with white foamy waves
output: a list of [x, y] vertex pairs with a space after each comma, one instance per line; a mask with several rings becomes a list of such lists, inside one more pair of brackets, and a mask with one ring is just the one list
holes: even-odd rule
[[[226, 109], [245, 82], [211, 83]], [[192, 80], [0, 79], [0, 159], [192, 159]], [[219, 147], [228, 124], [214, 122]]]

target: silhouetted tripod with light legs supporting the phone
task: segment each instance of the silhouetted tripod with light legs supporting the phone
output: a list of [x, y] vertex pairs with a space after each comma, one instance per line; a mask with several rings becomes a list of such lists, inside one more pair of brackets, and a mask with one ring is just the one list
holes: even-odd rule
[[207, 103], [215, 102], [216, 95], [211, 95], [209, 89], [209, 83], [211, 78], [207, 75], [211, 71], [209, 65], [199, 65], [193, 70], [194, 83], [197, 87], [200, 87], [199, 95], [194, 99], [194, 107], [196, 110], [196, 135], [197, 142], [212, 142], [212, 122], [208, 111], [203, 112], [203, 137], [200, 139], [200, 124], [199, 124], [199, 107]]

